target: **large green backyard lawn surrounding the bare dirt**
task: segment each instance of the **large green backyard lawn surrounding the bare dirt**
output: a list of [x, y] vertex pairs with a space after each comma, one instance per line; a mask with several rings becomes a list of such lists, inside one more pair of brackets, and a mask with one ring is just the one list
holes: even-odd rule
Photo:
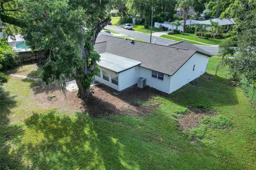
[[[0, 169], [256, 169], [255, 110], [225, 69], [213, 75], [219, 61], [141, 117], [46, 111], [30, 98], [35, 82], [12, 77], [0, 100]], [[190, 106], [218, 116], [182, 132], [177, 117]]]

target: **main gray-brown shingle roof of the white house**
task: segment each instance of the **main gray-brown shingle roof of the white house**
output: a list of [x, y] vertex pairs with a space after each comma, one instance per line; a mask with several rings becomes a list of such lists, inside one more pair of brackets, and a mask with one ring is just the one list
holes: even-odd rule
[[[101, 35], [94, 45], [97, 53], [111, 53], [141, 62], [141, 67], [173, 75], [196, 52], [195, 49], [163, 46]], [[201, 52], [199, 52], [201, 53]], [[209, 53], [205, 53], [206, 56]]]

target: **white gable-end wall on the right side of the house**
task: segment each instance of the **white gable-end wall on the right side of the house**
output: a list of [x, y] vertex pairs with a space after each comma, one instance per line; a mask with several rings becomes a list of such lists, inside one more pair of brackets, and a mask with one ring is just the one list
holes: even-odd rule
[[[195, 53], [174, 75], [172, 75], [169, 94], [204, 74], [207, 69], [208, 60], [209, 57]], [[193, 72], [194, 64], [196, 66]]]

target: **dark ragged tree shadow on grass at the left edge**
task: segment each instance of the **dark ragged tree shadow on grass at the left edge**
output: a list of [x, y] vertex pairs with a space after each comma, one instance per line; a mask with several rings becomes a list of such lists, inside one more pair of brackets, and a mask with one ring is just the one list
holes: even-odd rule
[[10, 156], [9, 141], [19, 143], [23, 129], [19, 124], [9, 124], [10, 109], [17, 106], [14, 100], [16, 96], [10, 96], [9, 92], [4, 92], [2, 97], [3, 99], [0, 99], [0, 169], [16, 169], [17, 166], [22, 167], [21, 158]]

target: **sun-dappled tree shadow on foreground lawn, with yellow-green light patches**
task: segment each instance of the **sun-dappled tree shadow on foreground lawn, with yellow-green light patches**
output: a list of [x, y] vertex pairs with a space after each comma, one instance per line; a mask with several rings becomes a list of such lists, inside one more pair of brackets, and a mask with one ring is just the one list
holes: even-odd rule
[[34, 114], [25, 123], [29, 133], [20, 154], [30, 169], [126, 169], [120, 161], [122, 148], [102, 125], [108, 122], [49, 111]]

